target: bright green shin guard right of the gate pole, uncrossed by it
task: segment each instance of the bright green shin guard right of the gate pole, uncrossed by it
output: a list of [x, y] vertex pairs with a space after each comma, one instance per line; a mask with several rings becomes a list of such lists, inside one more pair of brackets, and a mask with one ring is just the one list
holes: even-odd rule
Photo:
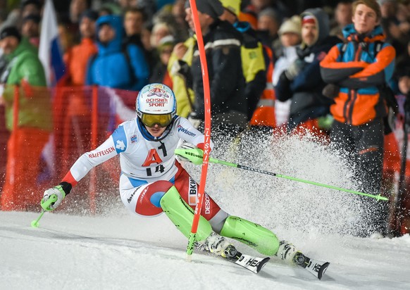
[[273, 232], [240, 217], [230, 215], [220, 234], [247, 244], [266, 256], [273, 256], [278, 252], [279, 241]]

